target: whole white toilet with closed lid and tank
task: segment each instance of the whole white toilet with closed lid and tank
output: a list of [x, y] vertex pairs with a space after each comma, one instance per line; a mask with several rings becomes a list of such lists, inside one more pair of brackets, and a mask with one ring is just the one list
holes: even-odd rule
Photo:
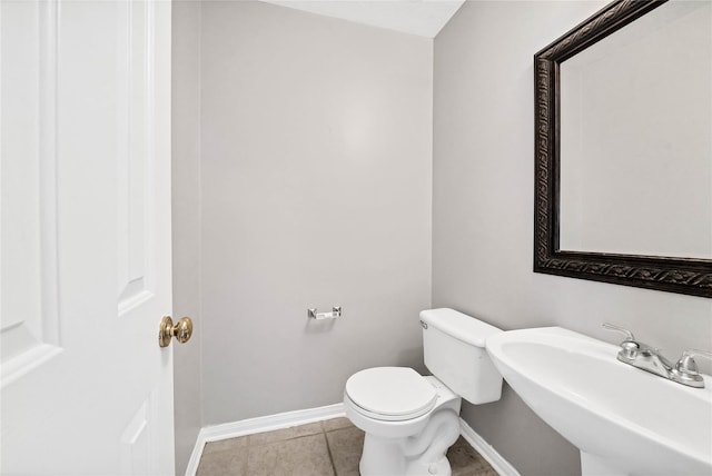
[[486, 404], [502, 396], [502, 376], [485, 351], [501, 329], [447, 308], [422, 311], [421, 325], [432, 376], [375, 367], [346, 381], [346, 416], [366, 434], [362, 476], [449, 476], [445, 453], [461, 433], [462, 398]]

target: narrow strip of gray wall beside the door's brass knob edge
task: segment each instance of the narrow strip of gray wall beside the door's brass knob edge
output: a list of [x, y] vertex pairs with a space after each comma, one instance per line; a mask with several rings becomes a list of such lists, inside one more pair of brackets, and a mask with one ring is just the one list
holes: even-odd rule
[[200, 3], [172, 4], [174, 318], [190, 316], [192, 338], [174, 348], [176, 474], [185, 474], [200, 408]]

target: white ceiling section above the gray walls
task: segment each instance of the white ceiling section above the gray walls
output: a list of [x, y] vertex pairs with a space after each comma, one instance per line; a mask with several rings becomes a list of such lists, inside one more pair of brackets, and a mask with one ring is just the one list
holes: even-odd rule
[[356, 23], [435, 38], [464, 0], [261, 0]]

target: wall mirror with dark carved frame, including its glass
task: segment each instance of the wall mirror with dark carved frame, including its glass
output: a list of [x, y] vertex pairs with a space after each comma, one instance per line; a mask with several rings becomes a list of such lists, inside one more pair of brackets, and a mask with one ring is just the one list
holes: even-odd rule
[[534, 271], [712, 297], [712, 2], [614, 2], [534, 65]]

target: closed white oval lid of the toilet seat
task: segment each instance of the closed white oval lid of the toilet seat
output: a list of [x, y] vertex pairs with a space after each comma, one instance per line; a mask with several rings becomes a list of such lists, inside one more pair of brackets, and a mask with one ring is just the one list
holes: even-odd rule
[[346, 381], [348, 398], [382, 419], [417, 418], [435, 405], [437, 391], [417, 371], [407, 367], [367, 368]]

